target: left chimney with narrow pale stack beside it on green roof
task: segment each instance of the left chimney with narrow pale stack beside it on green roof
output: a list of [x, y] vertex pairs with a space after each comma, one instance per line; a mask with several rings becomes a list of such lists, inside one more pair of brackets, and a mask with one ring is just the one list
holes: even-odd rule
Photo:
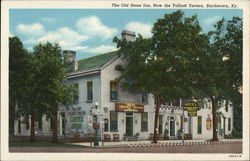
[[78, 70], [78, 61], [76, 60], [76, 52], [75, 51], [64, 50], [63, 56], [64, 56], [64, 64], [72, 65], [73, 71]]

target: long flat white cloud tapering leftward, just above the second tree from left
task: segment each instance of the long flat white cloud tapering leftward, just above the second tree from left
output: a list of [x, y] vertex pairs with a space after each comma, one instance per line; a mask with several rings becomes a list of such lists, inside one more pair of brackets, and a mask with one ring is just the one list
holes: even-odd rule
[[38, 44], [38, 43], [44, 43], [44, 42], [52, 42], [52, 43], [59, 43], [59, 45], [64, 49], [73, 49], [76, 46], [79, 46], [82, 42], [85, 42], [88, 40], [88, 37], [85, 35], [81, 35], [70, 28], [62, 27], [57, 29], [53, 32], [47, 32], [43, 36], [34, 39], [30, 38], [24, 43], [27, 44]]

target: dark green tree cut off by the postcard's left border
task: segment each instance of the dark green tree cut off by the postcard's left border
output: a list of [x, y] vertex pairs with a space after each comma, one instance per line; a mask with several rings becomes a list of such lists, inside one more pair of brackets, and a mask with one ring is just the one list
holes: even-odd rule
[[14, 129], [14, 119], [18, 115], [16, 108], [22, 108], [25, 102], [24, 89], [29, 86], [30, 55], [21, 40], [14, 36], [9, 38], [9, 130]]

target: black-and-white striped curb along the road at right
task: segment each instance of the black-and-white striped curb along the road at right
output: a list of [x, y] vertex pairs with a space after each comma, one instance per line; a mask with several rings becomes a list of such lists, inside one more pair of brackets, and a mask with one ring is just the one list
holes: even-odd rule
[[129, 147], [160, 147], [160, 146], [193, 146], [193, 145], [217, 145], [217, 144], [242, 144], [242, 141], [205, 141], [205, 142], [177, 142], [177, 143], [138, 143], [129, 144]]

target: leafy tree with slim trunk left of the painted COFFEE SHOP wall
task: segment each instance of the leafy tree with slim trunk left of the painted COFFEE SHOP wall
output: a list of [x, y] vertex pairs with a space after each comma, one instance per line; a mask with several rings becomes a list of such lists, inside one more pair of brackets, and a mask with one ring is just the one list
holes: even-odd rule
[[53, 142], [58, 142], [57, 111], [60, 104], [68, 104], [71, 94], [63, 83], [66, 79], [65, 68], [58, 44], [49, 42], [34, 47], [34, 58], [37, 70], [34, 73], [33, 85], [36, 94], [32, 105], [35, 114], [41, 118], [47, 114], [53, 121]]

